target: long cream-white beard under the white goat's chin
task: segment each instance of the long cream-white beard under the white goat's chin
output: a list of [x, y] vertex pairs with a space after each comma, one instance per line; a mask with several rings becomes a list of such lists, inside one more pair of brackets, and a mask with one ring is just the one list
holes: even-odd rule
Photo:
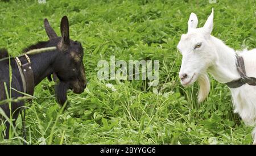
[[198, 100], [198, 102], [203, 102], [207, 98], [207, 96], [210, 92], [210, 80], [209, 80], [208, 74], [207, 73], [200, 74], [197, 79], [197, 82], [200, 87], [198, 96], [197, 96], [197, 100]]

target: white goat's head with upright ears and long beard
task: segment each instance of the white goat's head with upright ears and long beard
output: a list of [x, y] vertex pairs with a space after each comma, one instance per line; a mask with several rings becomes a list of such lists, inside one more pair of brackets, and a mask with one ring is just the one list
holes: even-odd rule
[[197, 16], [193, 12], [188, 20], [188, 32], [183, 34], [177, 45], [182, 54], [182, 64], [179, 72], [181, 85], [189, 86], [198, 80], [200, 91], [198, 100], [203, 101], [210, 88], [207, 69], [217, 59], [216, 48], [212, 45], [213, 9], [204, 27], [197, 27]]

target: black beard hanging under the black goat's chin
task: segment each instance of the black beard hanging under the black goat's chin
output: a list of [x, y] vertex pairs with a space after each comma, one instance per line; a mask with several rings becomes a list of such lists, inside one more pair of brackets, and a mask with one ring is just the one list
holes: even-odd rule
[[67, 91], [69, 88], [70, 88], [70, 83], [68, 82], [60, 81], [59, 84], [55, 85], [55, 96], [56, 96], [57, 102], [61, 104], [61, 106], [63, 106], [64, 103], [68, 100]]

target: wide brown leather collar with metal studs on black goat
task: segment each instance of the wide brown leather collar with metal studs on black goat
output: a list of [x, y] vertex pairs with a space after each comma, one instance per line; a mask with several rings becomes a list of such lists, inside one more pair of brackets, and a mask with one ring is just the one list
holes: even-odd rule
[[35, 88], [34, 73], [31, 66], [30, 58], [25, 54], [27, 63], [22, 64], [18, 57], [15, 57], [16, 64], [19, 69], [20, 77], [22, 78], [23, 92], [33, 95]]

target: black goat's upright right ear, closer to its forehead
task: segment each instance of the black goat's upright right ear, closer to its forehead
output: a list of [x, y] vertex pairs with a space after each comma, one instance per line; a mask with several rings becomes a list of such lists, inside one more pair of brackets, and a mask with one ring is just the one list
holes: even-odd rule
[[61, 32], [61, 49], [64, 47], [67, 47], [67, 45], [70, 44], [69, 40], [69, 23], [68, 23], [68, 17], [63, 16], [60, 22], [60, 32]]

